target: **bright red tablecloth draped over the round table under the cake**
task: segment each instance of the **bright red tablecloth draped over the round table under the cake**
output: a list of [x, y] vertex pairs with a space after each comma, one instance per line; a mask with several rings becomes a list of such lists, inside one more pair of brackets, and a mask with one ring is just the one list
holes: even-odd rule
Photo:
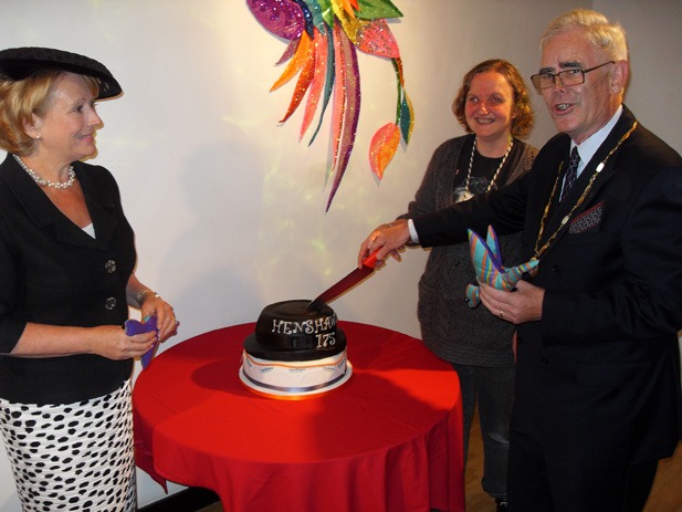
[[228, 512], [463, 512], [457, 374], [419, 339], [339, 326], [353, 376], [303, 400], [239, 379], [253, 323], [160, 354], [133, 391], [137, 464], [216, 491]]

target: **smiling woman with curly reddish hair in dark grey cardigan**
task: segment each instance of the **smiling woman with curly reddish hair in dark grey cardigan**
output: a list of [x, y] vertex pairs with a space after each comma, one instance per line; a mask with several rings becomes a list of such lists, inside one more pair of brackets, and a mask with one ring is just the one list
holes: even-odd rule
[[[521, 142], [533, 127], [528, 93], [518, 71], [504, 60], [475, 65], [452, 105], [469, 135], [444, 142], [402, 218], [421, 216], [485, 194], [531, 169], [537, 149]], [[485, 233], [481, 233], [485, 236]], [[522, 263], [521, 236], [500, 237], [505, 265]], [[424, 344], [452, 363], [462, 390], [464, 453], [476, 398], [484, 447], [483, 489], [506, 510], [508, 424], [514, 391], [514, 325], [465, 299], [475, 274], [469, 245], [431, 249], [419, 282], [418, 315]]]

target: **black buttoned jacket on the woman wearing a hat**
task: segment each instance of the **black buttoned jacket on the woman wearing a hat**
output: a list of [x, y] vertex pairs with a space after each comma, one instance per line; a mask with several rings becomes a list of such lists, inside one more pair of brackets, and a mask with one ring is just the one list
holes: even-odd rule
[[[91, 327], [128, 317], [135, 265], [133, 230], [114, 177], [74, 163], [96, 238], [69, 220], [10, 155], [0, 165], [0, 352], [27, 322]], [[129, 378], [133, 362], [96, 355], [0, 356], [0, 396], [63, 404], [105, 395]]]

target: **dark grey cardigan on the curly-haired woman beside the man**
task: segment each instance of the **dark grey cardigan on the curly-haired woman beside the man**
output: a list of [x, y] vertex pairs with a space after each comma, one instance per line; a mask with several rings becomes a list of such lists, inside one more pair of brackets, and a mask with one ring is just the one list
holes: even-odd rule
[[[455, 171], [463, 147], [471, 147], [473, 135], [441, 144], [429, 163], [415, 200], [402, 218], [418, 217], [453, 202], [453, 191], [461, 185], [466, 170]], [[503, 169], [500, 187], [527, 173], [537, 149], [514, 140]], [[506, 178], [505, 178], [506, 176]], [[480, 233], [485, 236], [485, 233]], [[521, 233], [500, 237], [505, 265], [521, 263]], [[434, 247], [430, 250], [424, 273], [419, 281], [418, 317], [424, 344], [451, 363], [502, 367], [512, 366], [514, 325], [493, 316], [483, 305], [470, 309], [465, 299], [469, 283], [475, 274], [469, 255], [469, 243]]]

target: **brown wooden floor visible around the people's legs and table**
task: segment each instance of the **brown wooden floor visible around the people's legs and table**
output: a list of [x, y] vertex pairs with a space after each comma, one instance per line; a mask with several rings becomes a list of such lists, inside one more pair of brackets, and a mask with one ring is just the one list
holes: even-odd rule
[[[494, 512], [495, 502], [481, 489], [483, 474], [483, 450], [481, 430], [474, 419], [469, 443], [469, 462], [466, 464], [465, 492], [468, 512]], [[653, 482], [651, 495], [643, 512], [681, 512], [682, 511], [682, 443], [678, 446], [671, 459], [661, 461]], [[201, 509], [198, 512], [223, 512], [220, 503]], [[316, 512], [316, 511], [315, 511]], [[352, 511], [349, 511], [352, 512]]]

